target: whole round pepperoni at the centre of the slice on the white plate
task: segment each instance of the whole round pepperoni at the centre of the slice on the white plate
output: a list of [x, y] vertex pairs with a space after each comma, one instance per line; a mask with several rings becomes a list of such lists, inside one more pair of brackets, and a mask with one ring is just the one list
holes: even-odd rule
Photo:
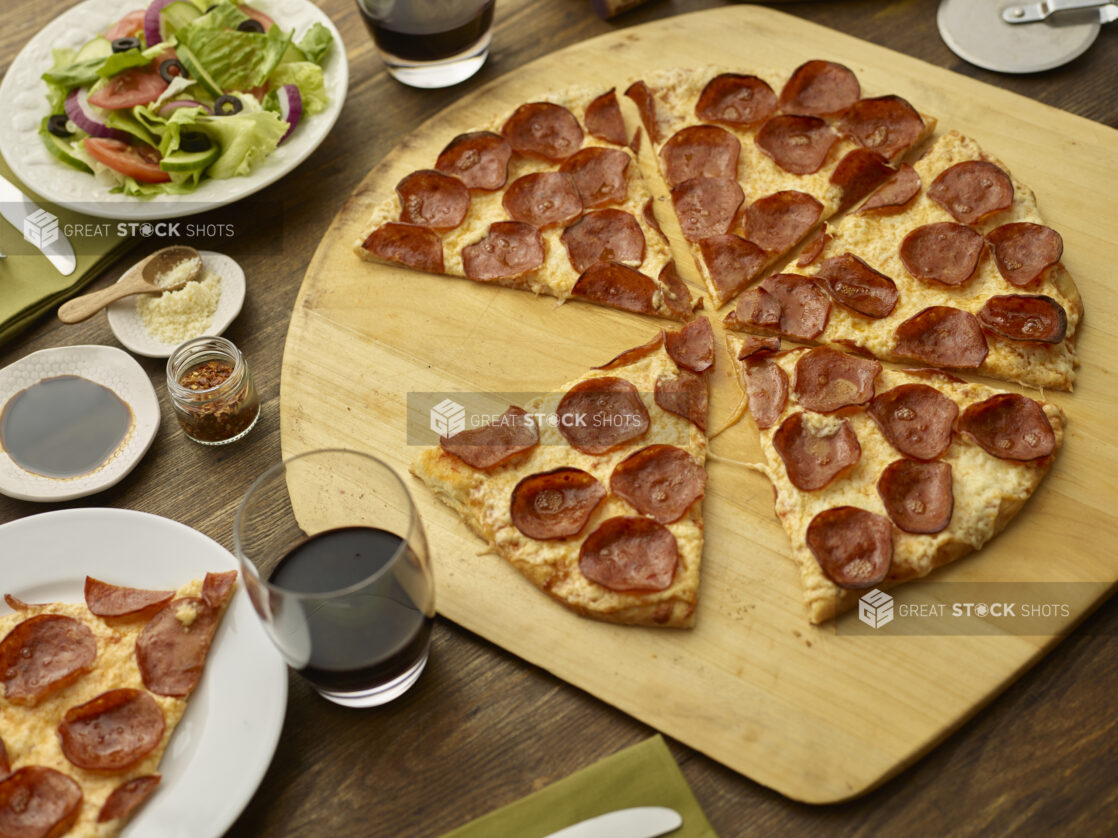
[[58, 725], [63, 754], [87, 771], [123, 771], [163, 740], [163, 711], [143, 689], [110, 689], [70, 707]]

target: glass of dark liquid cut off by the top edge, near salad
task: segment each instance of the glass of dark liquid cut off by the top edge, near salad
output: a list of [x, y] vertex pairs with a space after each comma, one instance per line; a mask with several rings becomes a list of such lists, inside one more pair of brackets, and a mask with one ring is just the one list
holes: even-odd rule
[[449, 87], [489, 55], [495, 0], [357, 0], [394, 78], [411, 87]]

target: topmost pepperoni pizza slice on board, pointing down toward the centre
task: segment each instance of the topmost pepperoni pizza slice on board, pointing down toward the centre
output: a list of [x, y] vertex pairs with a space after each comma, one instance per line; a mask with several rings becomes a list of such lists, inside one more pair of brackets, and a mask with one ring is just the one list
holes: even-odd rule
[[626, 91], [720, 307], [811, 230], [890, 177], [935, 120], [813, 60], [790, 76], [671, 69]]

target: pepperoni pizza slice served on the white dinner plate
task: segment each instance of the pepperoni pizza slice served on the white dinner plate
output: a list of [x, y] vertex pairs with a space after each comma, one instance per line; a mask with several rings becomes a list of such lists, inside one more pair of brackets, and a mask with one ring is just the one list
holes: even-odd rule
[[87, 578], [85, 602], [0, 617], [0, 835], [120, 834], [155, 792], [236, 571], [178, 591]]

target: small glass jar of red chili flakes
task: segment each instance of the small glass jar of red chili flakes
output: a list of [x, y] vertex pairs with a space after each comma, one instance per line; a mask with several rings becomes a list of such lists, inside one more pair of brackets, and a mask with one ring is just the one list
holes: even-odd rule
[[260, 413], [245, 356], [225, 337], [193, 337], [167, 361], [167, 392], [187, 436], [225, 445], [248, 434]]

